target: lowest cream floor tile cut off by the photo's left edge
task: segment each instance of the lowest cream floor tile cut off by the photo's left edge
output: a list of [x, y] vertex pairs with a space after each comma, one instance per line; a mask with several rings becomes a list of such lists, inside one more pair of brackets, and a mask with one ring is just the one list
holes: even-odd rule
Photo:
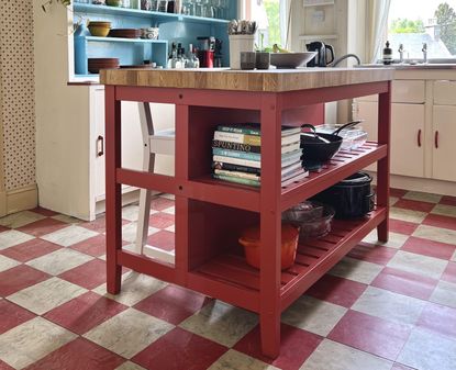
[[47, 319], [35, 317], [0, 335], [0, 359], [14, 369], [23, 369], [76, 337]]

